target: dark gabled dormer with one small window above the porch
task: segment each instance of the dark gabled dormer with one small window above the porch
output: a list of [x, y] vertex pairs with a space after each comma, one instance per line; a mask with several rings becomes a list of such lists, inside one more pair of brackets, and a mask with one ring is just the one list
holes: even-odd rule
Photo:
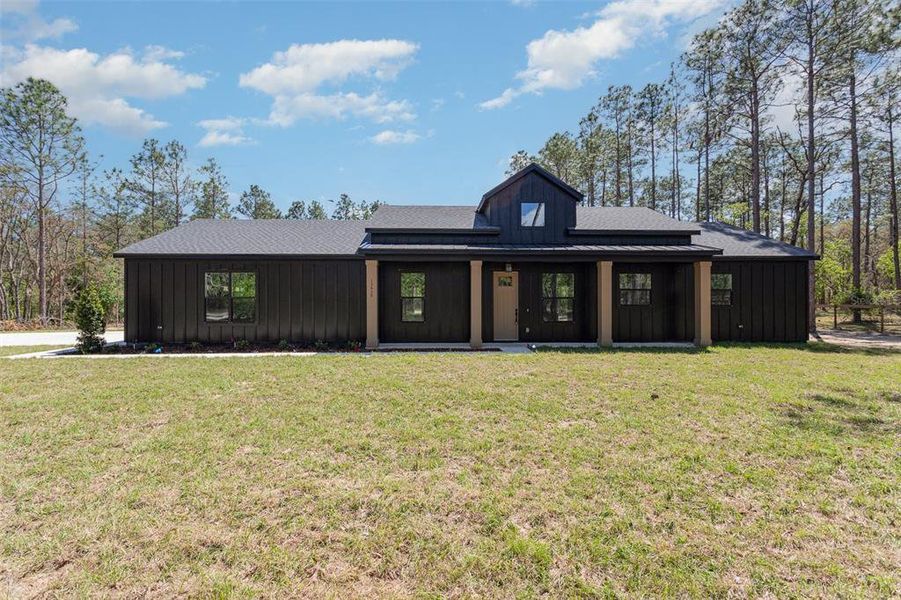
[[576, 226], [582, 194], [532, 163], [482, 196], [476, 209], [504, 244], [561, 244]]

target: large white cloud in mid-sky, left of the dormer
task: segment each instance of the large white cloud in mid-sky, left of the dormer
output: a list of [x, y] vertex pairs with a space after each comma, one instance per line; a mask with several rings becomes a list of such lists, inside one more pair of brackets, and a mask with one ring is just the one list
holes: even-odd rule
[[240, 77], [242, 87], [272, 96], [269, 122], [289, 126], [302, 118], [366, 118], [376, 123], [415, 118], [406, 100], [389, 100], [380, 91], [369, 94], [324, 91], [350, 79], [391, 81], [412, 62], [417, 44], [403, 40], [339, 40], [324, 44], [294, 44], [272, 60]]

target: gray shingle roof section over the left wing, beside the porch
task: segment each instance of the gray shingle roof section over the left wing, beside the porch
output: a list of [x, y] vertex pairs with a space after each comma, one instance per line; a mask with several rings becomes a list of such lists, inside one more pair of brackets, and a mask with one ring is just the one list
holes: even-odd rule
[[123, 248], [116, 256], [349, 256], [366, 221], [198, 219]]

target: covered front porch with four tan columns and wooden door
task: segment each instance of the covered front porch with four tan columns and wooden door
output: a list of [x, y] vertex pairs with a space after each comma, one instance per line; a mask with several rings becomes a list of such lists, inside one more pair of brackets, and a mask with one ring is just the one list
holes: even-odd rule
[[368, 259], [366, 347], [707, 346], [710, 286], [709, 258]]

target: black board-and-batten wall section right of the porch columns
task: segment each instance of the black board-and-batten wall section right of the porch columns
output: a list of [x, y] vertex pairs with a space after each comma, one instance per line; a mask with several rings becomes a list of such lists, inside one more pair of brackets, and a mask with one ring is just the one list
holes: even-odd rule
[[806, 342], [807, 261], [713, 262], [732, 274], [732, 305], [710, 311], [714, 341]]

